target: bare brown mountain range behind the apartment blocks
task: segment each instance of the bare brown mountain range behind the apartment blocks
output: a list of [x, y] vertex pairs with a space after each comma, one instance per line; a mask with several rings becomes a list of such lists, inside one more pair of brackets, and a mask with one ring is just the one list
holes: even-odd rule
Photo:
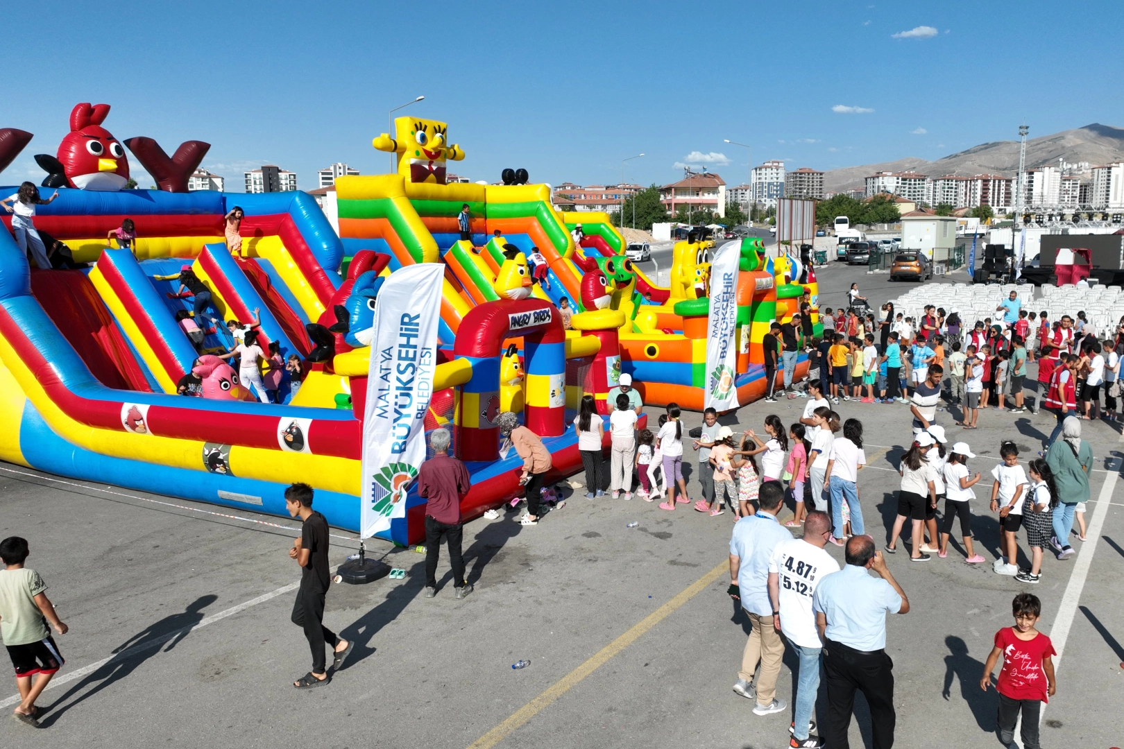
[[[1059, 158], [1070, 164], [1088, 162], [1099, 166], [1124, 161], [1124, 128], [1094, 122], [1072, 130], [1031, 138], [1026, 141], [1026, 168], [1057, 165]], [[899, 158], [881, 164], [846, 166], [824, 172], [824, 192], [861, 190], [863, 179], [876, 172], [921, 172], [930, 176], [958, 174], [1001, 174], [1015, 176], [1018, 171], [1018, 141], [996, 140], [928, 162], [924, 158]]]

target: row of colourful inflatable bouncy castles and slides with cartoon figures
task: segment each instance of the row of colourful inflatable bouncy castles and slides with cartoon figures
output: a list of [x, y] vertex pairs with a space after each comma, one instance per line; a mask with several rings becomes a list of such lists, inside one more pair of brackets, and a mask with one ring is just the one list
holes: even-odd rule
[[[581, 396], [606, 412], [624, 372], [647, 404], [703, 408], [708, 248], [699, 243], [677, 246], [661, 287], [624, 257], [608, 217], [582, 213], [575, 244], [578, 217], [555, 211], [546, 185], [526, 184], [522, 170], [505, 172], [506, 184], [445, 184], [445, 164], [464, 150], [435, 120], [399, 118], [395, 134], [375, 138], [397, 155], [397, 173], [341, 177], [326, 216], [299, 191], [185, 192], [207, 144], [169, 157], [151, 138], [117, 140], [108, 113], [79, 104], [76, 138], [37, 157], [58, 198], [37, 207], [35, 227], [66, 267], [33, 267], [0, 231], [0, 459], [273, 514], [285, 513], [290, 483], [307, 482], [332, 524], [356, 530], [373, 310], [384, 278], [415, 263], [444, 266], [425, 426], [448, 427], [469, 466], [465, 518], [519, 493], [522, 460], [501, 445], [501, 411], [543, 437], [554, 479], [581, 466], [568, 429]], [[0, 164], [29, 139], [0, 130]], [[123, 189], [123, 143], [161, 190]], [[236, 207], [238, 243], [226, 223]], [[126, 218], [136, 238], [107, 243]], [[735, 384], [745, 403], [764, 392], [769, 322], [806, 292], [815, 300], [815, 280], [792, 283], [759, 240], [738, 252]], [[544, 281], [533, 280], [540, 256]], [[563, 295], [572, 330], [558, 313]], [[296, 380], [262, 373], [281, 402], [257, 402], [257, 385], [221, 358], [248, 327], [263, 349], [277, 344], [282, 360], [305, 362]], [[202, 396], [178, 394], [185, 389]], [[413, 486], [405, 501], [381, 533], [398, 544], [424, 536], [425, 501]]]

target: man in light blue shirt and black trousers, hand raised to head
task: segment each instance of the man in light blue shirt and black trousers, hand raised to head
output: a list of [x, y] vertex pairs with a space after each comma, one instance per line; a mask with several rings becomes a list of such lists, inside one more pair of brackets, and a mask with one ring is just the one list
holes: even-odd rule
[[850, 749], [847, 729], [859, 689], [870, 706], [873, 749], [890, 749], [897, 713], [894, 661], [886, 655], [886, 614], [909, 613], [909, 600], [869, 536], [853, 536], [845, 557], [846, 566], [821, 579], [812, 599], [827, 677], [824, 738], [832, 749]]

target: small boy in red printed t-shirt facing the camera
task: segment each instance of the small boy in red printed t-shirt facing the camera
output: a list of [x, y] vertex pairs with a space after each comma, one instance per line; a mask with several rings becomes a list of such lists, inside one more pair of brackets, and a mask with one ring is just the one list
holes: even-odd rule
[[1053, 660], [1057, 655], [1050, 638], [1034, 629], [1042, 614], [1042, 602], [1036, 595], [1019, 593], [1012, 602], [1015, 625], [995, 633], [995, 647], [984, 665], [980, 688], [987, 692], [991, 672], [1003, 656], [1003, 669], [996, 679], [999, 693], [999, 741], [1010, 746], [1015, 739], [1015, 721], [1023, 713], [1023, 749], [1040, 749], [1039, 715], [1042, 703], [1058, 692]]

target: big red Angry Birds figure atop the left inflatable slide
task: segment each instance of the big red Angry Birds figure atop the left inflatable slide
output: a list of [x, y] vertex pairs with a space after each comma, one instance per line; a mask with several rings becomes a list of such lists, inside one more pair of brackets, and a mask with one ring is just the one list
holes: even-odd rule
[[78, 188], [114, 192], [129, 181], [125, 146], [101, 124], [109, 104], [75, 104], [71, 131], [58, 145], [58, 155], [38, 154], [35, 161], [47, 171], [44, 188]]

